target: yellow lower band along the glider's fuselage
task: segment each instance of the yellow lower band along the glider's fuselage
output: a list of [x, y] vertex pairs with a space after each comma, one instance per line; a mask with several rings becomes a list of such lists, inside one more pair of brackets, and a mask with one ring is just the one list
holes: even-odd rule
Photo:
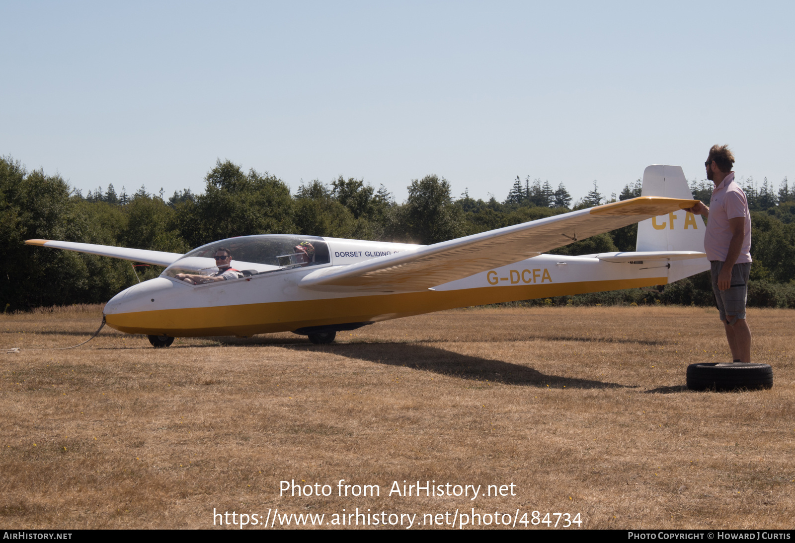
[[667, 281], [665, 277], [578, 281], [138, 311], [108, 314], [106, 322], [111, 328], [126, 333], [173, 337], [253, 336], [258, 333], [287, 332], [305, 326], [386, 321], [391, 318], [409, 317], [456, 307], [650, 287], [665, 284]]

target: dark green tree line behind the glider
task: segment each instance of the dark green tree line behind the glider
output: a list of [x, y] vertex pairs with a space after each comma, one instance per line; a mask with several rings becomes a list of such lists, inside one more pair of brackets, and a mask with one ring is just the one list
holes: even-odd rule
[[[113, 185], [83, 196], [60, 175], [27, 171], [18, 161], [0, 157], [0, 233], [7, 240], [2, 268], [6, 281], [0, 303], [10, 310], [70, 303], [106, 302], [162, 268], [83, 253], [37, 248], [26, 239], [77, 241], [167, 252], [226, 237], [265, 233], [301, 233], [375, 241], [432, 244], [503, 226], [583, 209], [640, 195], [640, 180], [606, 198], [594, 187], [573, 202], [563, 183], [517, 177], [498, 201], [454, 198], [448, 181], [437, 175], [414, 179], [405, 202], [395, 202], [381, 185], [339, 176], [331, 183], [302, 183], [294, 194], [274, 175], [244, 171], [218, 160], [204, 179], [204, 192], [190, 189], [150, 194], [117, 193]], [[758, 187], [746, 180], [753, 221], [754, 264], [751, 278], [770, 291], [759, 305], [795, 306], [795, 187], [786, 179], [774, 191], [765, 179]], [[696, 198], [709, 202], [711, 183], [692, 182]], [[577, 241], [558, 254], [634, 250], [637, 225]], [[707, 287], [704, 287], [704, 284]], [[678, 289], [678, 290], [677, 290]], [[674, 296], [677, 291], [678, 295]], [[667, 294], [666, 294], [667, 293]], [[602, 296], [602, 298], [599, 298]], [[615, 298], [619, 296], [619, 298]], [[639, 298], [642, 296], [643, 298]], [[634, 289], [624, 294], [555, 298], [548, 303], [675, 302], [711, 303], [708, 281], [696, 276], [669, 285], [660, 294]], [[611, 298], [612, 297], [612, 298]]]

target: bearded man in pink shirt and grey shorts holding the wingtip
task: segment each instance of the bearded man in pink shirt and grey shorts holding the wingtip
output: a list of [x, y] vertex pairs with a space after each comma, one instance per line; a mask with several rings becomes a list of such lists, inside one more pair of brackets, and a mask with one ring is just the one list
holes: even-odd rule
[[750, 213], [743, 189], [731, 168], [735, 156], [728, 145], [712, 145], [704, 166], [715, 183], [710, 207], [698, 202], [688, 211], [707, 218], [704, 251], [712, 267], [712, 291], [726, 329], [733, 363], [750, 362], [750, 328], [746, 298], [750, 274]]

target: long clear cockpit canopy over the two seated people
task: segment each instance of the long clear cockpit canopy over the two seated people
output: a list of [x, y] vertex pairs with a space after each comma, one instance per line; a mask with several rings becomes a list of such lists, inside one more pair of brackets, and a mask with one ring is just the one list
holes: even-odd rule
[[218, 272], [213, 256], [219, 249], [231, 252], [231, 267], [243, 275], [259, 275], [330, 262], [328, 244], [322, 237], [267, 234], [230, 237], [202, 245], [176, 260], [161, 275], [176, 277], [178, 273], [210, 275]]

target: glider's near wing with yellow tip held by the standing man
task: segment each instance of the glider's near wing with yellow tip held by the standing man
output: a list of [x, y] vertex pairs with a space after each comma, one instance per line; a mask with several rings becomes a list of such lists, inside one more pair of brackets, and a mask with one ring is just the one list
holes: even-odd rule
[[317, 291], [421, 291], [489, 268], [513, 264], [586, 237], [696, 205], [696, 200], [641, 196], [520, 225], [426, 245], [301, 279]]

